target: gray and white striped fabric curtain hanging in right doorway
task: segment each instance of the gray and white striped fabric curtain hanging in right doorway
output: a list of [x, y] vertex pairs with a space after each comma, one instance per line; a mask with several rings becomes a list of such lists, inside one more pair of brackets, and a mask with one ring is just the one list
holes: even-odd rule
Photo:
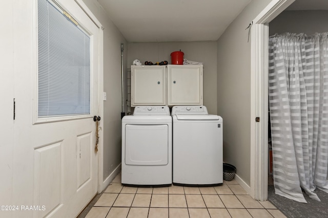
[[269, 39], [269, 108], [277, 195], [328, 192], [328, 33]]

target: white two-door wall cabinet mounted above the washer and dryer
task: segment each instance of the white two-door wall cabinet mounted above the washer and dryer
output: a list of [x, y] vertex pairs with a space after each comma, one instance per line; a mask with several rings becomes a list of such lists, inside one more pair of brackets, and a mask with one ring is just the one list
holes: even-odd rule
[[131, 66], [131, 106], [202, 105], [202, 65]]

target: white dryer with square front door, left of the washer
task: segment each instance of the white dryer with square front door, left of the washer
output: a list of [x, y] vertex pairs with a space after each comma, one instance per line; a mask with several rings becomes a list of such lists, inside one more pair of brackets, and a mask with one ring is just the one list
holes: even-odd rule
[[121, 183], [172, 184], [172, 116], [167, 106], [137, 106], [122, 118]]

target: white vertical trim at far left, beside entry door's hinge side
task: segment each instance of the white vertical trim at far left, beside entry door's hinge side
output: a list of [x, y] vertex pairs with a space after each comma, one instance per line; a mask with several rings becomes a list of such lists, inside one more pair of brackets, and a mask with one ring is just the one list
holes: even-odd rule
[[[3, 10], [0, 14], [2, 20], [2, 40], [0, 41], [0, 58], [2, 60], [0, 65], [0, 112], [3, 114], [1, 119], [0, 134], [0, 172], [1, 172], [1, 186], [0, 186], [0, 205], [8, 205], [12, 203], [13, 192], [13, 138], [14, 138], [14, 31], [13, 22], [11, 18], [14, 16], [13, 1], [1, 1], [0, 8]], [[1, 211], [2, 215], [6, 216], [7, 211]], [[9, 214], [8, 214], [9, 216]]]

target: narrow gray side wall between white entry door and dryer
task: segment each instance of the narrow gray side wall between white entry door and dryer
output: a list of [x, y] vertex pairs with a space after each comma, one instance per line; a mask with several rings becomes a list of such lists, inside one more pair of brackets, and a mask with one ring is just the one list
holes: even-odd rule
[[[124, 62], [127, 61], [127, 42], [96, 0], [83, 0], [104, 29], [104, 180], [121, 162], [121, 50], [125, 43]], [[125, 68], [125, 78], [127, 69]], [[125, 91], [125, 93], [127, 93]], [[127, 95], [126, 95], [127, 98]]]

